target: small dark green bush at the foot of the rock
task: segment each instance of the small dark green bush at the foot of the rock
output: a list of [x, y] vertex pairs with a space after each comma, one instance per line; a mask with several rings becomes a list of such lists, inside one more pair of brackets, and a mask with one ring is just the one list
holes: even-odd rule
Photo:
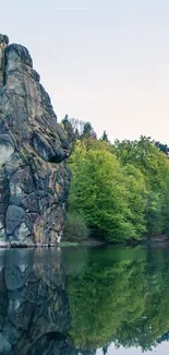
[[88, 228], [84, 218], [81, 215], [68, 213], [65, 225], [63, 228], [63, 240], [83, 240], [87, 237]]

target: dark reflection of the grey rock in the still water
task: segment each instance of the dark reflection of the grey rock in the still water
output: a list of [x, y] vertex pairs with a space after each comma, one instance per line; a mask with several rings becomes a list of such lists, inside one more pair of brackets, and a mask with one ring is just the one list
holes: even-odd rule
[[[59, 252], [0, 250], [0, 354], [72, 354]], [[45, 260], [45, 262], [43, 262]]]

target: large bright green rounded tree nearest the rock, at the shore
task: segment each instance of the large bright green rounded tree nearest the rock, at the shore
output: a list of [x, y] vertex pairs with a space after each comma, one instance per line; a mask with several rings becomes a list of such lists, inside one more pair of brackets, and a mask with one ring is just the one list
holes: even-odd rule
[[[71, 156], [71, 169], [73, 180], [69, 199], [70, 211], [79, 211], [97, 237], [108, 241], [140, 239], [141, 232], [145, 230], [144, 225], [142, 226], [142, 174], [134, 168], [129, 174], [116, 155], [104, 150], [87, 151], [84, 142], [76, 143]], [[135, 201], [132, 193], [137, 194]]]

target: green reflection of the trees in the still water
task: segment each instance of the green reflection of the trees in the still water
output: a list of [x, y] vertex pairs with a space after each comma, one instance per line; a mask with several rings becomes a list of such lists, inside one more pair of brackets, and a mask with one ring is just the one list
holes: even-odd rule
[[169, 250], [98, 248], [84, 259], [81, 253], [83, 268], [68, 275], [75, 347], [82, 354], [129, 354], [133, 347], [141, 354], [168, 341]]

